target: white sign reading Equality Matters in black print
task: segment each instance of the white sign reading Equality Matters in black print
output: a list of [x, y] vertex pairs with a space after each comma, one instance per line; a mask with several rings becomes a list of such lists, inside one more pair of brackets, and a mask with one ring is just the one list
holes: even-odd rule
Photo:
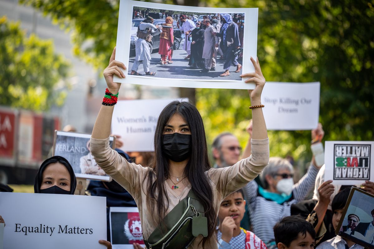
[[0, 192], [4, 248], [105, 249], [105, 197]]

